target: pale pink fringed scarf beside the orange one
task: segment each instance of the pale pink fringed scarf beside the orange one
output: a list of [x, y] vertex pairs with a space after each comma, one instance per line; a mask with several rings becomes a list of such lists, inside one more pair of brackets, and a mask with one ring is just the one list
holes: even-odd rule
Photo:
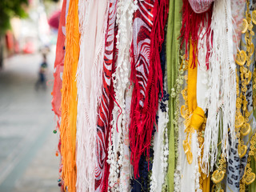
[[[94, 191], [98, 103], [102, 98], [102, 69], [107, 1], [79, 1], [77, 191]], [[78, 46], [78, 45], [77, 45]]]

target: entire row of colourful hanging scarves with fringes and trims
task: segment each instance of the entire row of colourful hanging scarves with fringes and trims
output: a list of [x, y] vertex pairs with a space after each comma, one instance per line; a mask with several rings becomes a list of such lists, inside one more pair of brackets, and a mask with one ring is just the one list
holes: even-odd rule
[[61, 190], [256, 192], [255, 32], [254, 0], [64, 0]]

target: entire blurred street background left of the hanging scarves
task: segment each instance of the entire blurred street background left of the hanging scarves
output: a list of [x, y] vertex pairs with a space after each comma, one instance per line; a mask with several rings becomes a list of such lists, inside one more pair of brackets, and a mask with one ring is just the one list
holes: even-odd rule
[[62, 1], [0, 1], [0, 192], [57, 192], [51, 110]]

